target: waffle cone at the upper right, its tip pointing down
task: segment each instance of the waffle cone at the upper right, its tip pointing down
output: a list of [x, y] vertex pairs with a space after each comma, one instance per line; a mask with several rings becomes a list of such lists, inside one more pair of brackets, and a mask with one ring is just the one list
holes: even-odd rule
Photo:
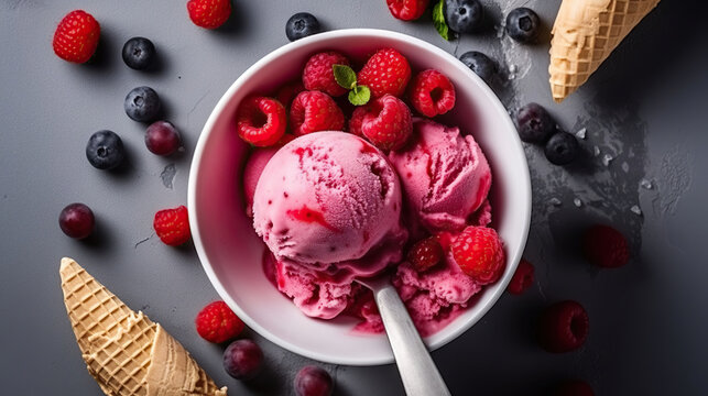
[[574, 92], [660, 0], [563, 0], [551, 40], [551, 91]]

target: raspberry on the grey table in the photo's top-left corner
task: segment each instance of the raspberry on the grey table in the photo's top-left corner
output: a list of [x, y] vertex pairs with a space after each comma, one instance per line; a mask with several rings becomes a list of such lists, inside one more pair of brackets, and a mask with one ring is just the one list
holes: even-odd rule
[[96, 52], [101, 26], [84, 10], [66, 14], [54, 32], [54, 53], [64, 61], [85, 63]]

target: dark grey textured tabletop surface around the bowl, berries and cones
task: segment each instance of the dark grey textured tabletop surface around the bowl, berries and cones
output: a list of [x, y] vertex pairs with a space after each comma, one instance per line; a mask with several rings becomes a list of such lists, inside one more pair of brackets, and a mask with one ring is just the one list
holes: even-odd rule
[[[96, 395], [66, 318], [59, 258], [75, 257], [128, 305], [160, 321], [233, 395], [288, 395], [306, 359], [257, 334], [266, 371], [250, 384], [228, 377], [221, 348], [201, 340], [193, 319], [217, 298], [193, 246], [172, 249], [154, 235], [153, 213], [186, 202], [190, 156], [209, 112], [252, 63], [287, 42], [285, 21], [297, 11], [317, 15], [326, 30], [381, 28], [424, 38], [457, 55], [479, 50], [504, 70], [494, 84], [513, 110], [547, 106], [562, 128], [587, 129], [579, 164], [549, 165], [526, 148], [534, 212], [525, 256], [536, 283], [523, 296], [503, 296], [471, 330], [433, 356], [455, 395], [542, 395], [556, 382], [585, 378], [597, 395], [705, 394], [708, 277], [705, 169], [708, 157], [708, 7], [701, 1], [660, 3], [588, 84], [563, 105], [547, 86], [548, 44], [520, 46], [488, 33], [444, 42], [429, 16], [394, 20], [383, 0], [236, 0], [228, 25], [193, 25], [183, 1], [0, 0], [0, 383], [7, 395]], [[483, 1], [500, 15], [525, 4], [546, 29], [559, 0]], [[101, 24], [96, 62], [58, 59], [56, 23], [77, 8]], [[161, 66], [129, 69], [120, 48], [151, 38]], [[167, 119], [182, 131], [177, 158], [150, 154], [143, 125], [122, 110], [126, 94], [149, 85]], [[119, 174], [92, 168], [84, 147], [100, 129], [119, 133], [130, 166]], [[595, 156], [595, 147], [600, 152]], [[608, 166], [602, 157], [612, 157]], [[643, 183], [644, 180], [644, 183]], [[642, 184], [651, 188], [641, 187]], [[574, 199], [579, 199], [578, 208]], [[77, 242], [62, 234], [57, 216], [74, 201], [90, 206], [98, 234]], [[630, 209], [639, 206], [642, 215]], [[585, 226], [612, 223], [631, 237], [634, 258], [619, 270], [591, 268], [579, 256]], [[536, 346], [533, 320], [543, 307], [577, 299], [590, 316], [578, 351], [554, 355]], [[264, 307], [266, 309], [266, 307]], [[336, 395], [399, 395], [393, 365], [325, 365]]]

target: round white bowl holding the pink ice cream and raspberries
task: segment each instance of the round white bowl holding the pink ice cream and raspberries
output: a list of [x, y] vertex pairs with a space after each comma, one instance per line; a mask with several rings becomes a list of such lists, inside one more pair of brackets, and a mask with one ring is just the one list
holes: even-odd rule
[[236, 132], [235, 113], [247, 95], [268, 94], [296, 78], [314, 53], [337, 50], [366, 59], [382, 47], [401, 52], [414, 72], [435, 68], [455, 85], [453, 114], [440, 120], [471, 132], [484, 151], [492, 167], [492, 226], [505, 245], [502, 278], [484, 287], [471, 308], [427, 337], [431, 349], [469, 329], [504, 293], [521, 258], [531, 219], [529, 167], [507, 110], [476, 74], [445, 51], [401, 33], [351, 29], [302, 38], [257, 62], [226, 91], [199, 136], [188, 186], [194, 244], [216, 290], [251, 329], [290, 351], [335, 364], [383, 364], [393, 362], [393, 355], [384, 334], [352, 333], [355, 319], [308, 318], [265, 278], [263, 243], [243, 209], [240, 186], [248, 145]]

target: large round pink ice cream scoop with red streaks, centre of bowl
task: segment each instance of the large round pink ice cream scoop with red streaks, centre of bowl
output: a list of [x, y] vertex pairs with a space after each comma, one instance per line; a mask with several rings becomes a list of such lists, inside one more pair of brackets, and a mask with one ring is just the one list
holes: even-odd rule
[[270, 158], [255, 187], [253, 228], [279, 261], [344, 272], [347, 280], [400, 260], [407, 238], [391, 164], [342, 132], [297, 138]]

